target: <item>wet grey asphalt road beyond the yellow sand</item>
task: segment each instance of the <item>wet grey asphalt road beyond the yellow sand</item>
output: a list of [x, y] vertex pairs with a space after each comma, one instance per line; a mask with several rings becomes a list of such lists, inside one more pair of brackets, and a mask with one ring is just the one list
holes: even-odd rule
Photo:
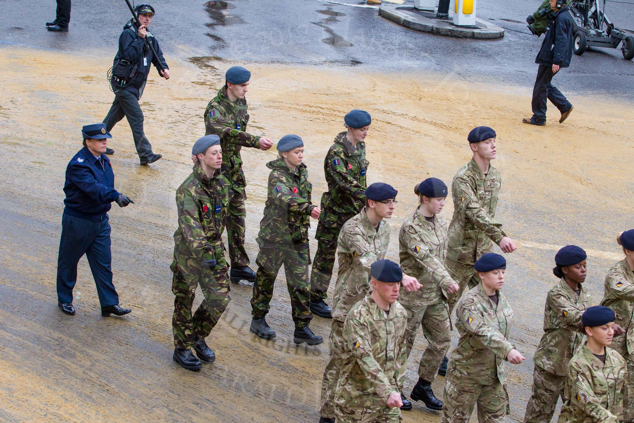
[[[623, 0], [629, 1], [629, 0]], [[363, 2], [342, 0], [153, 1], [157, 15], [150, 28], [165, 57], [216, 56], [225, 60], [357, 66], [373, 71], [442, 72], [451, 78], [485, 84], [532, 86], [534, 56], [541, 39], [527, 33], [524, 19], [539, 1], [509, 2], [504, 8], [480, 0], [477, 13], [505, 27], [498, 41], [430, 36], [404, 29], [377, 15]], [[632, 2], [634, 3], [634, 2]], [[55, 16], [55, 2], [30, 4], [3, 0], [0, 46], [28, 44], [61, 51], [95, 49], [95, 61], [110, 63], [129, 11], [124, 0], [73, 1], [70, 32], [51, 34], [44, 22]], [[204, 4], [207, 4], [205, 6]], [[453, 2], [452, 2], [453, 4]], [[404, 6], [411, 6], [407, 0]], [[617, 27], [634, 29], [634, 4], [607, 3]], [[104, 51], [110, 51], [102, 57]], [[634, 98], [634, 63], [620, 49], [595, 49], [574, 56], [555, 77], [564, 91]]]

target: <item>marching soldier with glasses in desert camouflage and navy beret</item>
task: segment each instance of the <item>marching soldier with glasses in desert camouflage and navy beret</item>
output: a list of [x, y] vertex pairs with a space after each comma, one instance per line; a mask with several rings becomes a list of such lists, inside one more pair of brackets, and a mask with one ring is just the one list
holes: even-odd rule
[[[365, 190], [366, 207], [349, 219], [339, 233], [339, 276], [335, 283], [333, 320], [328, 339], [330, 358], [321, 382], [320, 423], [335, 421], [333, 400], [345, 348], [344, 321], [348, 311], [370, 290], [370, 266], [385, 257], [390, 242], [390, 225], [386, 219], [392, 217], [396, 207], [396, 193], [386, 183], [368, 186]], [[408, 275], [403, 275], [402, 283], [407, 290], [420, 288], [418, 281]]]

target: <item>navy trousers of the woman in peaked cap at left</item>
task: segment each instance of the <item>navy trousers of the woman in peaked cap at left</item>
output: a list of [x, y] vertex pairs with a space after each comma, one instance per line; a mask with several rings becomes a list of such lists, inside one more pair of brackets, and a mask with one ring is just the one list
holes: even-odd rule
[[103, 215], [100, 222], [75, 218], [66, 213], [62, 215], [60, 254], [57, 259], [58, 301], [73, 302], [77, 263], [84, 254], [93, 272], [101, 307], [119, 304], [119, 295], [112, 285], [110, 223], [107, 215]]

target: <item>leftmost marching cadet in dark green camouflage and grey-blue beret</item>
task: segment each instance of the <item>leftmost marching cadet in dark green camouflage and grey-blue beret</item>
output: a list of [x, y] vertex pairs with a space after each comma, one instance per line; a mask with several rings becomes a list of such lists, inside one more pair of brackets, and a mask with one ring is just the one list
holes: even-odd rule
[[[209, 335], [229, 304], [227, 262], [223, 256], [224, 215], [229, 185], [221, 173], [222, 152], [216, 135], [200, 138], [191, 149], [197, 156], [193, 172], [176, 190], [178, 229], [174, 232], [174, 361], [187, 370], [199, 370], [202, 361], [216, 355], [207, 344]], [[196, 287], [205, 299], [194, 315]], [[191, 353], [196, 351], [196, 358]]]

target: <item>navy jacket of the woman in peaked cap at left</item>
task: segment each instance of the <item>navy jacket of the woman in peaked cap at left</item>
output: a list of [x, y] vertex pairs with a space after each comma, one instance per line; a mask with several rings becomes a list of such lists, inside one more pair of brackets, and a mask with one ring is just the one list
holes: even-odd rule
[[66, 167], [64, 212], [100, 221], [110, 210], [110, 203], [119, 197], [114, 186], [115, 174], [107, 155], [102, 154], [97, 160], [87, 147], [82, 148]]

